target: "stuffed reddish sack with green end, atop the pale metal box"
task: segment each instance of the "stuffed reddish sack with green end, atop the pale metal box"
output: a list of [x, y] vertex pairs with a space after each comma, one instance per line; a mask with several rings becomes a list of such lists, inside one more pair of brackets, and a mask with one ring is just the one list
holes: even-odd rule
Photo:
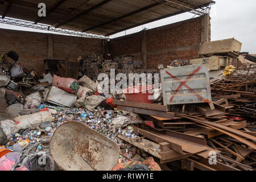
[[65, 90], [69, 93], [75, 93], [79, 89], [79, 81], [73, 78], [64, 78], [53, 75], [52, 86]]

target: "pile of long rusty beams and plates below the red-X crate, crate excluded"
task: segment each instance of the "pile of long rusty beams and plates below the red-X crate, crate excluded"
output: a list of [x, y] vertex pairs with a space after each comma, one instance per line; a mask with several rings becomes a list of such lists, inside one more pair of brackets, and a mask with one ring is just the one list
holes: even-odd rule
[[[193, 170], [253, 170], [256, 137], [245, 119], [230, 117], [236, 108], [225, 98], [208, 104], [183, 105], [172, 112], [167, 106], [113, 101], [117, 109], [138, 113], [143, 125], [133, 126], [142, 137], [118, 137], [177, 168]], [[156, 150], [156, 148], [158, 148]], [[212, 156], [213, 155], [213, 156]], [[216, 164], [209, 160], [216, 156]]]

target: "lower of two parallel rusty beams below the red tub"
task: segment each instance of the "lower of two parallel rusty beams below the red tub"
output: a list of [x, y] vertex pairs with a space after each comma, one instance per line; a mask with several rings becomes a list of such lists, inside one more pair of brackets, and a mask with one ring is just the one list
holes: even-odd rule
[[155, 115], [158, 117], [170, 118], [174, 119], [174, 113], [164, 112], [164, 111], [157, 111], [157, 110], [148, 110], [148, 109], [141, 109], [137, 107], [128, 107], [128, 106], [117, 106], [118, 110], [125, 110], [131, 113], [139, 113], [139, 114], [146, 114], [146, 115]]

